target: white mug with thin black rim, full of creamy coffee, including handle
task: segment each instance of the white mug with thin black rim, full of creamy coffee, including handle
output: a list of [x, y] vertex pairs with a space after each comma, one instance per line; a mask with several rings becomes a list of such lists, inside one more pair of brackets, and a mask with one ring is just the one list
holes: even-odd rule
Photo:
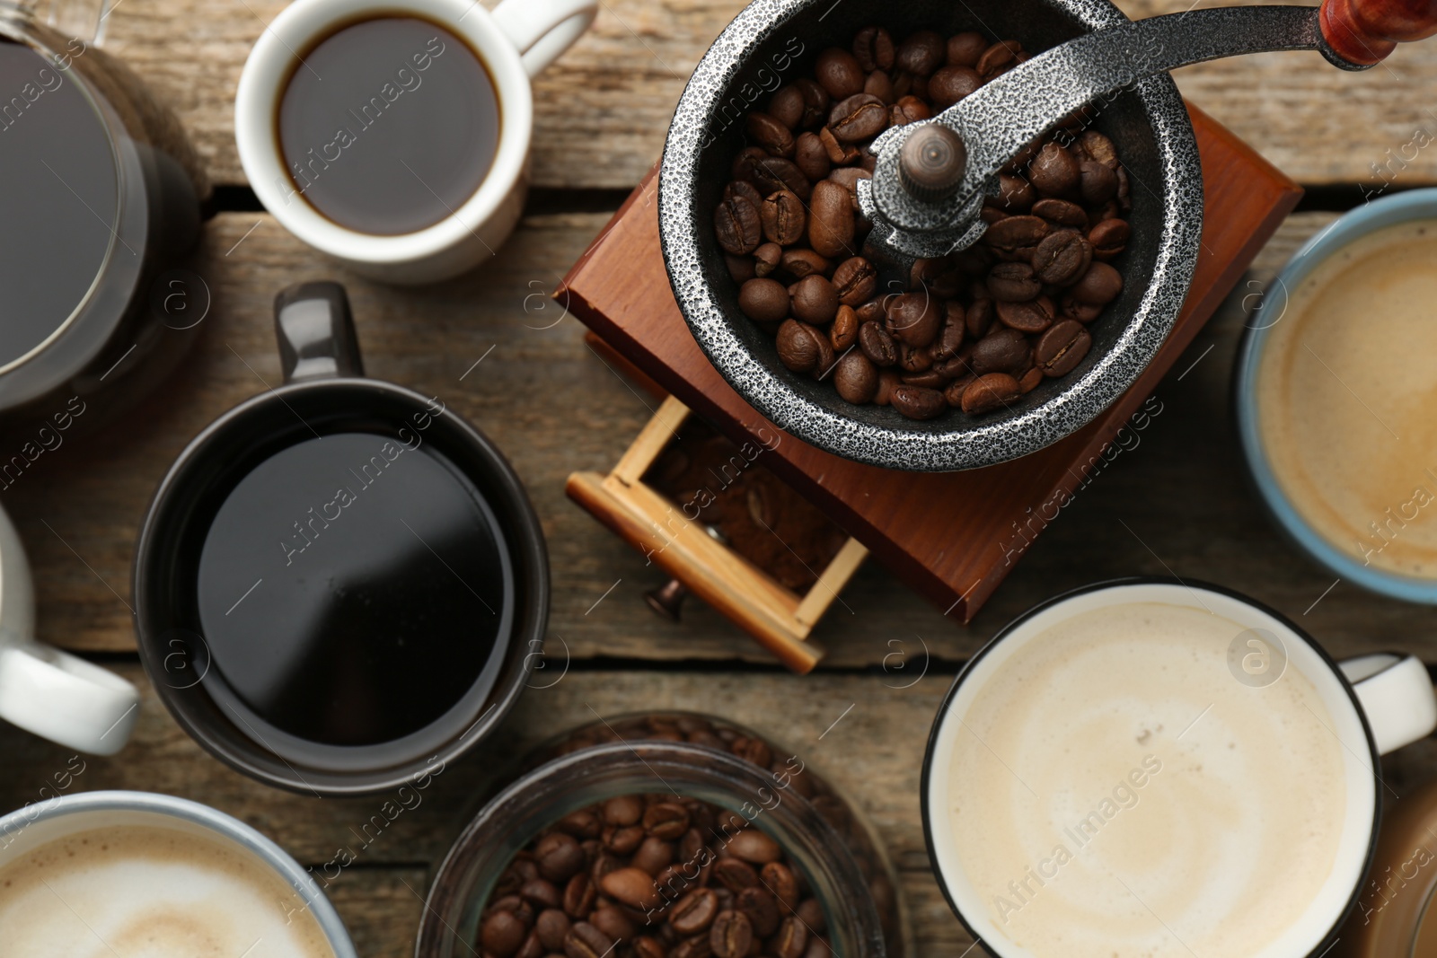
[[958, 675], [924, 760], [928, 853], [1000, 958], [1305, 958], [1351, 911], [1380, 755], [1437, 727], [1411, 656], [1334, 662], [1236, 593], [1053, 599]]

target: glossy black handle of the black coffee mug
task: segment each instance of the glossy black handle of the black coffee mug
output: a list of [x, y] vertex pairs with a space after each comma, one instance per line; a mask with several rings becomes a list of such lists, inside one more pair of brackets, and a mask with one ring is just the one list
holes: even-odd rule
[[296, 283], [274, 297], [274, 338], [285, 382], [362, 376], [349, 296], [339, 283]]

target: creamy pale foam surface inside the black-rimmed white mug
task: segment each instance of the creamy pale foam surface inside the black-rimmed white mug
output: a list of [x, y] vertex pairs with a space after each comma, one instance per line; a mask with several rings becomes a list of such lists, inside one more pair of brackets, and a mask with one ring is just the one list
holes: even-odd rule
[[946, 866], [1013, 942], [1234, 958], [1318, 895], [1346, 811], [1342, 744], [1296, 668], [1266, 688], [1233, 678], [1243, 631], [1164, 603], [1095, 609], [1025, 642], [974, 697]]

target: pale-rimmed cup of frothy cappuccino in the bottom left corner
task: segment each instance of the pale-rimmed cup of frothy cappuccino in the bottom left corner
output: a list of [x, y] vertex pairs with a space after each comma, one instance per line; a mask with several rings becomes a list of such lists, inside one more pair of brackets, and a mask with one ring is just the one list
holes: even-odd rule
[[315, 879], [221, 811], [88, 791], [0, 817], [6, 958], [356, 958]]

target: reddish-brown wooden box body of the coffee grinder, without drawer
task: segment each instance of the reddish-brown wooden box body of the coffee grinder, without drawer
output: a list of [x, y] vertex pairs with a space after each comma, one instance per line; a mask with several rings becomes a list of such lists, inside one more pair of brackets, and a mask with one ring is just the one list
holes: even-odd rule
[[[790, 483], [946, 615], [969, 622], [1118, 429], [1209, 320], [1302, 190], [1188, 106], [1203, 159], [1203, 246], [1193, 284], [1152, 363], [1094, 422], [1027, 455], [966, 473], [902, 473], [852, 462], [785, 434], [763, 464]], [[737, 444], [777, 429], [718, 375], [668, 286], [658, 181], [639, 185], [555, 296], [621, 356]]]

